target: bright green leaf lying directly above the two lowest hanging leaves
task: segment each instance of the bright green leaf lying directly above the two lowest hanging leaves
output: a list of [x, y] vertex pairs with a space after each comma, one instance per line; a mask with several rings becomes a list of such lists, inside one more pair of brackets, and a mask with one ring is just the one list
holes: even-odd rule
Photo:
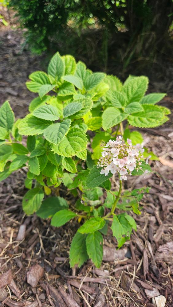
[[101, 217], [92, 217], [87, 220], [79, 229], [80, 233], [90, 233], [104, 227], [105, 221]]

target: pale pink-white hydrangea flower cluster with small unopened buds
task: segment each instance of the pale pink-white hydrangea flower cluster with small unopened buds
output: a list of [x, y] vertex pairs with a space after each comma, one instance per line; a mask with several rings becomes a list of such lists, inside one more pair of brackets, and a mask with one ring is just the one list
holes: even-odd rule
[[[109, 140], [102, 152], [102, 157], [99, 159], [97, 166], [102, 167], [100, 174], [108, 176], [109, 171], [112, 174], [118, 172], [120, 180], [127, 180], [127, 174], [132, 175], [132, 171], [141, 168], [141, 158], [143, 157], [144, 149], [140, 144], [132, 145], [132, 141], [127, 139], [127, 144], [122, 141], [121, 136], [116, 138], [116, 141]], [[148, 157], [149, 158], [149, 157]], [[146, 164], [148, 163], [148, 158]], [[145, 171], [144, 173], [148, 173]]]

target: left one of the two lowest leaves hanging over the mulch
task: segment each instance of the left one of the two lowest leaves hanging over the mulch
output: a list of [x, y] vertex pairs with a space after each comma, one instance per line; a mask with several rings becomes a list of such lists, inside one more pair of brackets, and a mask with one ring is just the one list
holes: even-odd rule
[[76, 264], [80, 267], [88, 259], [85, 243], [86, 235], [77, 232], [72, 240], [70, 247], [70, 267]]

